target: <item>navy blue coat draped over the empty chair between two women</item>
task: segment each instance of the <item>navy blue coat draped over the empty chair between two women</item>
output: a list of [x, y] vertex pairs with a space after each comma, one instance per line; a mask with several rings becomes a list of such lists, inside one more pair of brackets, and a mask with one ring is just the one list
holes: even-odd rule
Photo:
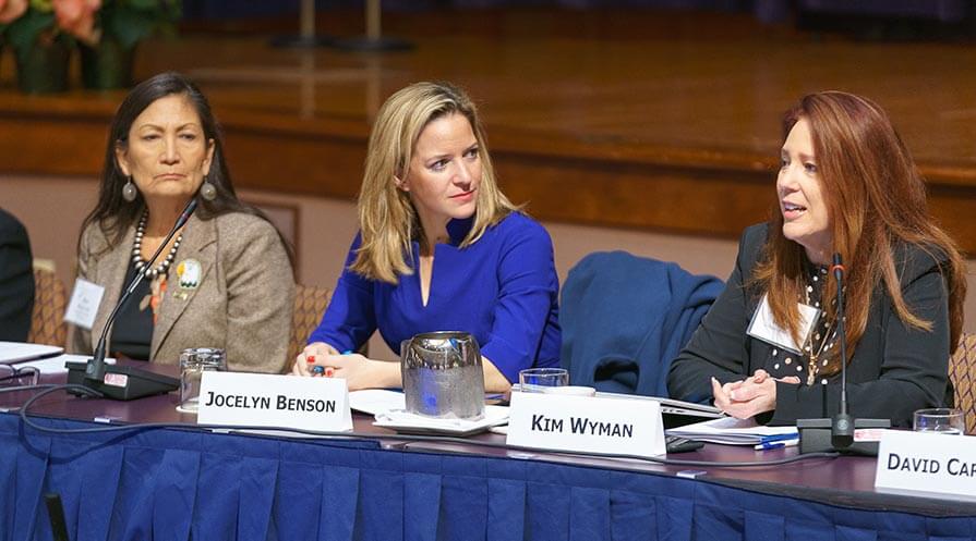
[[626, 251], [594, 253], [566, 276], [562, 364], [574, 385], [667, 396], [667, 370], [721, 280]]

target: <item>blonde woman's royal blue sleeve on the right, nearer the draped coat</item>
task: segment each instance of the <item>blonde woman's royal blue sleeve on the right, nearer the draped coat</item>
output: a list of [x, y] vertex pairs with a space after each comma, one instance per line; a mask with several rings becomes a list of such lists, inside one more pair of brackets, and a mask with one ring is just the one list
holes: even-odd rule
[[501, 246], [498, 299], [481, 354], [508, 379], [531, 367], [559, 290], [553, 243], [542, 225], [513, 228]]

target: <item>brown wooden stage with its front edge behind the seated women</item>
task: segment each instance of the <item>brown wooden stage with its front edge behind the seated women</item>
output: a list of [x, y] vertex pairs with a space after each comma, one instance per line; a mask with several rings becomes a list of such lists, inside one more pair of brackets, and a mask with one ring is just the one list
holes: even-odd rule
[[[354, 19], [322, 24], [354, 34]], [[383, 99], [447, 79], [481, 104], [503, 185], [533, 214], [713, 236], [767, 216], [783, 110], [845, 89], [890, 112], [933, 212], [976, 253], [972, 44], [854, 42], [747, 16], [648, 11], [387, 14], [385, 28], [417, 48], [309, 52], [197, 28], [143, 46], [136, 72], [179, 70], [201, 84], [242, 186], [354, 197]], [[0, 173], [97, 174], [122, 94], [21, 96], [12, 61], [4, 51]]]

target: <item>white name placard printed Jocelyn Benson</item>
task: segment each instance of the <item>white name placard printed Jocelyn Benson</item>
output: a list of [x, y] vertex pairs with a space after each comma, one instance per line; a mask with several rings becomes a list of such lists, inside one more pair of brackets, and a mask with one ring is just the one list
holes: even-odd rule
[[204, 372], [196, 422], [346, 432], [352, 413], [341, 378]]

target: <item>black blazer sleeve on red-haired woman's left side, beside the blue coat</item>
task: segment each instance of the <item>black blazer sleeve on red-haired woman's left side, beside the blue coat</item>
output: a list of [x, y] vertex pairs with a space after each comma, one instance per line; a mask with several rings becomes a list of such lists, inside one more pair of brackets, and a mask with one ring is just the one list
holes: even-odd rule
[[672, 397], [710, 403], [711, 378], [722, 383], [738, 381], [748, 370], [750, 344], [746, 329], [755, 302], [745, 283], [766, 244], [766, 224], [761, 224], [743, 233], [725, 291], [671, 365], [667, 392]]

